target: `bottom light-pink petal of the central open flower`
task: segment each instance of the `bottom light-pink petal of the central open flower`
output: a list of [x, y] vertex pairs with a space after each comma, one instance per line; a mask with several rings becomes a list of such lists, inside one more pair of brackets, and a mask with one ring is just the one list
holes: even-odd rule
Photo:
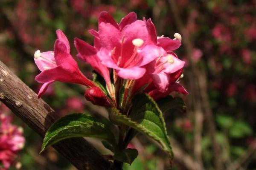
[[117, 75], [123, 79], [140, 79], [145, 74], [146, 69], [140, 67], [119, 68]]

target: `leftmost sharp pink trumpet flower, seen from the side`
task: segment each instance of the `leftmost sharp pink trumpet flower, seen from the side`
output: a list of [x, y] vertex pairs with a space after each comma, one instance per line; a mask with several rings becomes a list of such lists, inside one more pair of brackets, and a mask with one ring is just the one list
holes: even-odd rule
[[58, 39], [55, 41], [54, 51], [35, 52], [35, 63], [41, 74], [35, 77], [38, 82], [44, 83], [38, 97], [46, 91], [54, 81], [73, 82], [87, 87], [94, 87], [94, 83], [84, 77], [76, 61], [70, 55], [70, 45], [67, 37], [61, 30], [56, 31]]

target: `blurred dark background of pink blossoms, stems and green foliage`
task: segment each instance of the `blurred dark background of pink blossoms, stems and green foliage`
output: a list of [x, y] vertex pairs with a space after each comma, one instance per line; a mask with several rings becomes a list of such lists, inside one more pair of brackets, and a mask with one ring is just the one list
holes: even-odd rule
[[[0, 0], [0, 60], [37, 93], [34, 52], [52, 50], [55, 30], [62, 29], [75, 57], [74, 37], [92, 44], [87, 30], [97, 30], [101, 11], [117, 22], [135, 11], [139, 19], [153, 20], [158, 36], [182, 35], [175, 53], [186, 61], [181, 79], [190, 93], [181, 96], [186, 113], [164, 114], [175, 152], [173, 170], [256, 170], [256, 0]], [[91, 77], [91, 68], [78, 63]], [[55, 82], [43, 99], [63, 116], [106, 116], [83, 93], [79, 85]], [[76, 169], [53, 148], [39, 155], [41, 137], [7, 109], [3, 112], [23, 127], [26, 139], [11, 170]], [[90, 142], [108, 154], [98, 141]], [[138, 135], [130, 147], [139, 156], [125, 170], [168, 169], [166, 154], [150, 139]]]

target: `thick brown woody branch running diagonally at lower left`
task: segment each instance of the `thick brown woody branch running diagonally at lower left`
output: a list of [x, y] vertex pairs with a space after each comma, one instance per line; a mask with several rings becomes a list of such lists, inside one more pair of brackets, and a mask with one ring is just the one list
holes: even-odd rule
[[[0, 100], [40, 136], [59, 116], [0, 61]], [[79, 170], [115, 169], [83, 138], [66, 139], [54, 148]]]

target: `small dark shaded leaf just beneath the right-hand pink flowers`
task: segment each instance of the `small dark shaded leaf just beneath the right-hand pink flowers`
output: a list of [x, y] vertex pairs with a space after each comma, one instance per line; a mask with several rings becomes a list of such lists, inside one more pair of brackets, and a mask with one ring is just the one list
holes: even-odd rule
[[186, 111], [186, 105], [180, 97], [166, 96], [165, 98], [158, 100], [157, 105], [163, 113], [172, 109], [180, 110], [182, 112]]

